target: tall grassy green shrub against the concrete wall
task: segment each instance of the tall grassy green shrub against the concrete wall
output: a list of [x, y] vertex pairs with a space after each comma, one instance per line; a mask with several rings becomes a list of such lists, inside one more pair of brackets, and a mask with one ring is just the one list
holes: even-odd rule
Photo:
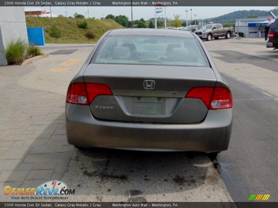
[[9, 42], [5, 49], [8, 64], [21, 64], [25, 59], [26, 48], [27, 44], [21, 39]]

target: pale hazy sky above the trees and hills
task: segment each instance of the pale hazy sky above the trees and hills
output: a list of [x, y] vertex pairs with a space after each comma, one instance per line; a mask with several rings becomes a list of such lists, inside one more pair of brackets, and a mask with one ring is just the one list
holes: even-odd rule
[[[25, 7], [30, 8], [30, 7]], [[49, 10], [49, 6], [45, 7], [47, 10]], [[190, 9], [192, 9], [192, 19], [195, 19], [194, 14], [197, 15], [197, 19], [204, 19], [204, 18], [210, 18], [210, 17], [217, 17], [221, 16], [223, 14], [227, 14], [230, 12], [238, 11], [238, 10], [272, 10], [275, 6], [264, 6], [264, 7], [240, 7], [240, 6], [230, 6], [230, 7], [166, 7], [166, 16], [167, 18], [174, 18], [174, 14], [180, 14], [180, 19], [186, 19], [186, 12], [185, 10], [189, 10], [188, 12], [188, 19], [190, 19]], [[164, 8], [163, 8], [164, 9]], [[65, 11], [67, 11], [67, 16], [73, 16], [75, 12], [78, 14], [86, 15], [87, 17], [87, 6], [78, 6], [78, 7], [70, 7], [67, 6], [67, 9], [65, 7], [51, 7], [53, 14], [62, 14], [65, 16]], [[129, 6], [122, 6], [122, 7], [89, 7], [89, 17], [95, 17], [95, 18], [101, 18], [105, 17], [107, 14], [113, 14], [115, 16], [117, 15], [125, 15], [131, 20], [131, 7]], [[164, 11], [163, 11], [164, 14]], [[148, 20], [149, 18], [154, 17], [155, 15], [155, 8], [151, 6], [146, 7], [133, 7], [133, 19], [140, 19], [144, 18], [145, 20]]]

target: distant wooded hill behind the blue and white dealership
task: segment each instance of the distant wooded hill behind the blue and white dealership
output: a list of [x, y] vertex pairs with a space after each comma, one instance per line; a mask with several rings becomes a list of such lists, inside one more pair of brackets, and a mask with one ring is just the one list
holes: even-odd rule
[[[277, 14], [277, 9], [274, 9], [274, 14]], [[218, 17], [212, 17], [212, 18], [206, 18], [204, 19], [204, 22], [213, 22], [216, 23], [216, 18], [217, 18], [217, 23], [235, 23], [235, 19], [238, 18], [247, 18], [250, 15], [254, 16], [270, 16], [268, 11], [262, 11], [262, 10], [241, 10], [241, 11], [235, 11], [231, 12], [228, 14], [224, 14], [222, 16]]]

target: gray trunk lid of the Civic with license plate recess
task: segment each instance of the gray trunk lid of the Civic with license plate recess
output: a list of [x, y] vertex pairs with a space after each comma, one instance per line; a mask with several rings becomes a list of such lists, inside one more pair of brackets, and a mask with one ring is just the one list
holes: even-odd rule
[[211, 68], [185, 66], [89, 64], [83, 78], [85, 83], [105, 84], [113, 93], [92, 101], [93, 116], [126, 122], [201, 122], [208, 108], [202, 100], [185, 96], [191, 88], [216, 83]]

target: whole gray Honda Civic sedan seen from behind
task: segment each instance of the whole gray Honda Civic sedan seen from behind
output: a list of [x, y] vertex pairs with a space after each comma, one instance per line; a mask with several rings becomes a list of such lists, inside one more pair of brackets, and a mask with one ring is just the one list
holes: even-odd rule
[[69, 84], [69, 144], [146, 151], [228, 148], [233, 100], [202, 41], [187, 31], [115, 29]]

